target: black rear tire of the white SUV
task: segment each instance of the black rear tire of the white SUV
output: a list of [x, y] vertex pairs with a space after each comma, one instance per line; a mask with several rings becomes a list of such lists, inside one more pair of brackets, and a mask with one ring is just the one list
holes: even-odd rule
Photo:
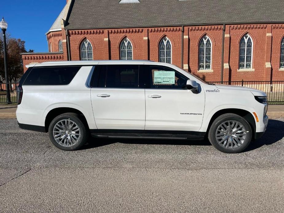
[[[60, 122], [61, 120], [65, 120], [65, 121], [67, 120], [67, 122], [68, 121], [75, 122], [75, 124], [79, 127], [80, 130], [77, 133], [80, 133], [80, 136], [76, 136], [78, 137], [78, 140], [76, 142], [74, 142], [75, 141], [74, 136], [73, 137], [70, 136], [71, 139], [70, 139], [70, 142], [68, 142], [68, 145], [67, 145], [67, 142], [64, 142], [64, 144], [62, 144], [62, 142], [60, 143], [56, 141], [56, 139], [53, 136], [53, 129], [54, 129], [54, 126], [57, 124], [57, 122]], [[87, 124], [84, 124], [83, 121], [84, 120], [80, 118], [80, 116], [76, 113], [64, 113], [64, 114], [58, 115], [56, 118], [52, 120], [52, 122], [49, 125], [48, 134], [49, 134], [49, 138], [51, 142], [57, 148], [66, 150], [66, 151], [73, 151], [73, 150], [80, 149], [80, 147], [88, 141], [88, 137], [89, 137], [89, 130], [86, 128]], [[66, 135], [66, 132], [63, 132], [62, 136], [64, 135]], [[71, 135], [71, 133], [69, 135]], [[68, 134], [66, 137], [69, 137]], [[72, 144], [71, 141], [74, 142], [74, 144]]]

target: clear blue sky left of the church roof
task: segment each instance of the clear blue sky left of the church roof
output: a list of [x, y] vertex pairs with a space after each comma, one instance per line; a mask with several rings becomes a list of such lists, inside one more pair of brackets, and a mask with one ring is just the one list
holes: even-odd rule
[[1, 0], [0, 15], [8, 23], [11, 37], [26, 41], [27, 50], [48, 52], [45, 33], [66, 4], [66, 0]]

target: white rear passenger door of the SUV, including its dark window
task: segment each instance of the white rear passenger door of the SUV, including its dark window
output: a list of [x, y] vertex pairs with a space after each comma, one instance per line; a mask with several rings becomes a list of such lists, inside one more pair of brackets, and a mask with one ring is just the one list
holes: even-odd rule
[[145, 89], [138, 85], [139, 65], [98, 65], [91, 103], [98, 129], [144, 130]]

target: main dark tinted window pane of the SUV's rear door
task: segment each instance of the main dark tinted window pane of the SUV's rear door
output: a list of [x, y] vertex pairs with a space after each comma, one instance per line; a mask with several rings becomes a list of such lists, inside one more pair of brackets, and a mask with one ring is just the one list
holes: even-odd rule
[[107, 66], [106, 87], [138, 88], [139, 65]]

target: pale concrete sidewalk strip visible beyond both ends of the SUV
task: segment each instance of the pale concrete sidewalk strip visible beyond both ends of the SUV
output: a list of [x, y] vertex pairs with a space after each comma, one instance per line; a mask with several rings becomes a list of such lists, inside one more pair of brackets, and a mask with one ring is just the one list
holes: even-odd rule
[[[0, 105], [0, 119], [16, 118], [17, 106]], [[269, 118], [284, 118], [284, 105], [268, 105]]]

